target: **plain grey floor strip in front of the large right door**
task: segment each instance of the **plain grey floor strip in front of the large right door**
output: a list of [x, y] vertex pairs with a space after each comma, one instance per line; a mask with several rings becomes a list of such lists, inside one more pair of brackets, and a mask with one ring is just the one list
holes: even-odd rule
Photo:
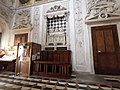
[[120, 85], [120, 76], [112, 76], [112, 75], [91, 75], [91, 74], [82, 74], [77, 73], [76, 79], [83, 82], [98, 82], [105, 83], [111, 85]]

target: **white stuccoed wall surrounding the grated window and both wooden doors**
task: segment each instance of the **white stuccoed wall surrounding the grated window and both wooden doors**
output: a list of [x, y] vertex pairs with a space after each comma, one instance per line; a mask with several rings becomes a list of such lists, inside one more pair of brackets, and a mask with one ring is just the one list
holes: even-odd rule
[[[13, 45], [15, 34], [28, 33], [29, 41], [42, 44], [42, 49], [44, 49], [46, 41], [46, 12], [55, 5], [61, 5], [67, 8], [69, 12], [67, 38], [69, 49], [72, 50], [73, 71], [94, 74], [91, 27], [116, 24], [120, 41], [120, 6], [117, 5], [120, 1], [107, 0], [113, 2], [109, 5], [113, 5], [114, 3], [114, 5], [117, 5], [117, 19], [112, 18], [112, 20], [109, 21], [99, 21], [101, 18], [94, 18], [94, 20], [91, 18], [91, 15], [96, 15], [90, 9], [92, 5], [94, 6], [94, 1], [106, 0], [56, 0], [55, 2], [51, 0], [49, 3], [17, 8], [16, 13], [13, 14], [14, 18], [12, 19], [14, 21], [13, 25], [11, 25], [13, 28], [10, 29], [7, 27], [6, 31], [4, 31], [4, 36], [8, 35], [8, 38], [3, 38], [4, 42], [2, 45], [6, 42], [8, 42], [6, 46]], [[109, 8], [109, 10], [111, 10], [111, 8]], [[7, 30], [9, 32], [7, 32]]]

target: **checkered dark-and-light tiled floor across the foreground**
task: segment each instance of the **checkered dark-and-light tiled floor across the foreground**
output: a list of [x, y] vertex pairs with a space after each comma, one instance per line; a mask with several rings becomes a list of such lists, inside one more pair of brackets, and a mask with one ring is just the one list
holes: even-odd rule
[[120, 90], [120, 86], [73, 79], [20, 77], [0, 74], [0, 90]]

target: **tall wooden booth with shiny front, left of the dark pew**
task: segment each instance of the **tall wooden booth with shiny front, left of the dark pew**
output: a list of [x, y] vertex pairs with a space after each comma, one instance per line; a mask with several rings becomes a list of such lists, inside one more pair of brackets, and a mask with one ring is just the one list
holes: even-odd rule
[[16, 75], [29, 77], [32, 74], [32, 62], [41, 51], [41, 45], [34, 42], [18, 43]]

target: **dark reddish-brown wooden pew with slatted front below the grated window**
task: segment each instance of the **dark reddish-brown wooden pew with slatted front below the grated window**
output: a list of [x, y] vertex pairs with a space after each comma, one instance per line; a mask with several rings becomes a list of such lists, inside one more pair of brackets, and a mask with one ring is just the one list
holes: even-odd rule
[[33, 61], [33, 74], [69, 78], [71, 75], [71, 51], [41, 51], [41, 59]]

